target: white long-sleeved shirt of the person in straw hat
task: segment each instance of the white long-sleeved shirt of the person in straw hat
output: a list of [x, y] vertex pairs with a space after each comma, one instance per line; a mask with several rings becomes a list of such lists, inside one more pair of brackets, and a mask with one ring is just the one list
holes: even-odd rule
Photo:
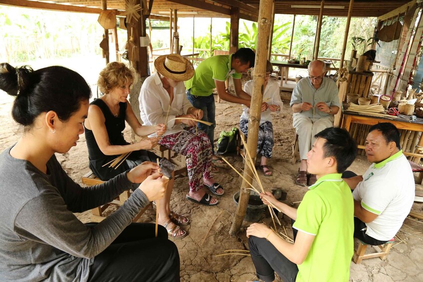
[[[176, 84], [173, 88], [173, 101], [170, 104], [169, 93], [163, 87], [159, 74], [156, 71], [153, 75], [147, 77], [142, 83], [138, 97], [140, 117], [144, 125], [157, 125], [165, 123], [166, 114], [170, 106], [167, 131], [164, 135], [174, 134], [184, 130], [182, 124], [175, 124], [172, 120], [178, 115], [186, 114], [192, 107], [185, 94], [185, 85], [183, 82]], [[153, 133], [151, 136], [155, 136]]]

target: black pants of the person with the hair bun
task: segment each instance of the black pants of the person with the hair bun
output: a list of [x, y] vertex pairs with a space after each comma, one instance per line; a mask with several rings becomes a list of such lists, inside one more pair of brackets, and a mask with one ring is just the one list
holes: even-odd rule
[[[91, 225], [91, 224], [88, 224]], [[154, 224], [132, 223], [94, 258], [89, 282], [179, 282], [179, 253], [167, 231]]]

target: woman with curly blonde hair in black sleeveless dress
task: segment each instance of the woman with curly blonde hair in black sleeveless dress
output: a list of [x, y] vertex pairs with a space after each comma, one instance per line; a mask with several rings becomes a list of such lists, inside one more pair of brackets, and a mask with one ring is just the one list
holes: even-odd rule
[[[153, 152], [147, 151], [157, 145], [158, 136], [166, 132], [163, 123], [154, 126], [141, 125], [135, 116], [127, 97], [130, 92], [134, 74], [124, 63], [111, 62], [100, 71], [98, 87], [104, 94], [90, 103], [88, 117], [85, 120], [85, 139], [88, 147], [89, 168], [101, 180], [107, 181], [116, 175], [131, 169], [142, 162], [156, 162], [161, 159]], [[141, 136], [141, 141], [128, 143], [123, 138], [125, 121], [134, 133]], [[158, 136], [146, 138], [155, 132]], [[117, 156], [129, 153], [118, 167], [107, 164]], [[166, 167], [173, 165], [166, 159], [161, 162]], [[174, 179], [169, 180], [164, 200], [159, 201], [159, 224], [163, 225], [173, 238], [184, 238], [188, 233], [178, 225], [189, 224], [186, 217], [170, 209], [170, 197]]]

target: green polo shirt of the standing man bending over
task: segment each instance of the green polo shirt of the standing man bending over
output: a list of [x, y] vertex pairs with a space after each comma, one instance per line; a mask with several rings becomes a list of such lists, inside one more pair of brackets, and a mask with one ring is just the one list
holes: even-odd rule
[[225, 81], [229, 75], [241, 78], [241, 73], [231, 71], [232, 55], [216, 55], [202, 61], [194, 76], [185, 81], [186, 89], [191, 89], [191, 94], [195, 96], [210, 96], [216, 88], [215, 79]]

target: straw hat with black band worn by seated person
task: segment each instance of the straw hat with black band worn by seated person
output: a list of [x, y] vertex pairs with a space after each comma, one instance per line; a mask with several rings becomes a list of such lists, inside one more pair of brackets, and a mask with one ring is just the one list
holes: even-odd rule
[[163, 55], [154, 61], [154, 67], [163, 76], [185, 81], [194, 75], [194, 67], [186, 58], [178, 54]]

